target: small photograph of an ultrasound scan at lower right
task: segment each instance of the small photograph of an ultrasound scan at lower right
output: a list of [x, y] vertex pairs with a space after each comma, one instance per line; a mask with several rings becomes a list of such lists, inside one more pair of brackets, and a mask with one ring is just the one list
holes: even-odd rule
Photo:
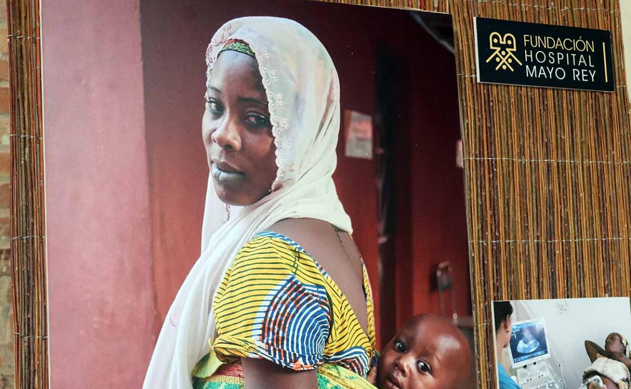
[[629, 298], [493, 301], [500, 389], [628, 389]]

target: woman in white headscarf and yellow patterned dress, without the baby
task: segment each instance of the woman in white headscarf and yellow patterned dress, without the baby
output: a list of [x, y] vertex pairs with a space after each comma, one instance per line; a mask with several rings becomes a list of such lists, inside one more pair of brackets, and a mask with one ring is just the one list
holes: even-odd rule
[[370, 284], [332, 178], [331, 57], [295, 21], [250, 17], [215, 33], [206, 64], [202, 253], [143, 387], [372, 388]]

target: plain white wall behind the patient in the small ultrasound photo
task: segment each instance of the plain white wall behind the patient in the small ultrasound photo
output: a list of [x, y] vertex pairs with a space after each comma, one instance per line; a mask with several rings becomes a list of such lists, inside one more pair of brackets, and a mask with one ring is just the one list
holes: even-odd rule
[[[611, 332], [631, 337], [631, 308], [628, 298], [550, 299], [511, 301], [512, 320], [545, 318], [550, 359], [560, 375], [559, 364], [568, 389], [581, 385], [583, 370], [590, 361], [584, 341], [604, 345]], [[560, 306], [567, 305], [567, 310]]]

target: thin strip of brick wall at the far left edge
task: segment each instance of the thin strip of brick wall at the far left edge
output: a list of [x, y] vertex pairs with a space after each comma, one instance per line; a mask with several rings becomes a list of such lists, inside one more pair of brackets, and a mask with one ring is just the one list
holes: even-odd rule
[[[7, 35], [6, 1], [0, 0], [0, 37]], [[0, 38], [0, 389], [15, 388], [13, 307], [9, 265], [9, 63]]]

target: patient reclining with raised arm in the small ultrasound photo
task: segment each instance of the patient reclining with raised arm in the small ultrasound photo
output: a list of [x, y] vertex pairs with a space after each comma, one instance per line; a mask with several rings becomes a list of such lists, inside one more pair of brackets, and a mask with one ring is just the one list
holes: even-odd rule
[[[586, 340], [585, 349], [592, 364], [585, 369], [583, 380], [597, 375], [606, 389], [630, 389], [631, 347], [625, 337], [616, 332], [607, 335], [604, 349]], [[591, 383], [588, 389], [596, 389], [596, 385]]]

